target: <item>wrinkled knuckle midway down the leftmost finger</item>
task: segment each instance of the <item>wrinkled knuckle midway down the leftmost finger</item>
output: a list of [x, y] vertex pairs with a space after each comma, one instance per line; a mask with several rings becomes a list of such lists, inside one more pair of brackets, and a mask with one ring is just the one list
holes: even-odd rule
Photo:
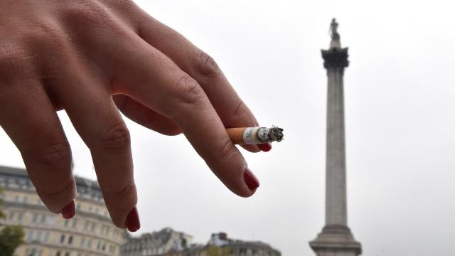
[[36, 156], [48, 169], [63, 169], [71, 162], [71, 148], [68, 142], [44, 146]]

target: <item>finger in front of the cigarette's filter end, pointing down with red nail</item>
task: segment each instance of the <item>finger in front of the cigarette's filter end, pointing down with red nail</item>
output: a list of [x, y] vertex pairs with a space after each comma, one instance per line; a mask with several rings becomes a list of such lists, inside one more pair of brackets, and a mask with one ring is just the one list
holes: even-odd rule
[[107, 52], [118, 63], [115, 90], [173, 119], [213, 173], [239, 196], [251, 196], [259, 182], [232, 144], [225, 126], [198, 82], [136, 35], [125, 38], [124, 54]]

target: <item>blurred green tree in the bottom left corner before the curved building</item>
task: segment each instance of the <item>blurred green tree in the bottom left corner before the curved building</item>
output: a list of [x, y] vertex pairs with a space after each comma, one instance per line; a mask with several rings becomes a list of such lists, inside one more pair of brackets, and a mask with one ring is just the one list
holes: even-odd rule
[[[1, 189], [0, 189], [1, 194]], [[1, 201], [0, 198], [0, 206]], [[5, 219], [6, 215], [0, 208], [0, 221]], [[18, 225], [3, 225], [0, 223], [0, 256], [11, 256], [16, 250], [16, 247], [23, 242], [25, 235], [23, 228]]]

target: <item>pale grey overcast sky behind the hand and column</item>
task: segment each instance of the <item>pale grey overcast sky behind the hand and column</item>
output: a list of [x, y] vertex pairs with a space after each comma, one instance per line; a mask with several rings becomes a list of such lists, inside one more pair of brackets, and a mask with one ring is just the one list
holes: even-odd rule
[[[262, 240], [314, 255], [324, 221], [326, 71], [331, 18], [349, 47], [345, 73], [348, 216], [363, 255], [447, 255], [455, 242], [455, 33], [451, 1], [137, 1], [217, 60], [264, 126], [284, 128], [248, 154], [261, 186], [230, 193], [186, 139], [127, 122], [141, 232], [170, 226]], [[279, 3], [279, 4], [277, 4]], [[95, 178], [65, 112], [75, 173]], [[23, 166], [0, 129], [0, 164]], [[174, 158], [174, 157], [175, 158]]]

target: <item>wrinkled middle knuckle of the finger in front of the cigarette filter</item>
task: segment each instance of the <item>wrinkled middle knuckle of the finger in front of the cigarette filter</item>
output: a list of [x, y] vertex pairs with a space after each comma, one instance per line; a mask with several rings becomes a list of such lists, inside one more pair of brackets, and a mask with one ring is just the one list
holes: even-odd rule
[[197, 105], [203, 102], [205, 92], [199, 83], [189, 75], [183, 75], [176, 84], [177, 97], [186, 104]]

